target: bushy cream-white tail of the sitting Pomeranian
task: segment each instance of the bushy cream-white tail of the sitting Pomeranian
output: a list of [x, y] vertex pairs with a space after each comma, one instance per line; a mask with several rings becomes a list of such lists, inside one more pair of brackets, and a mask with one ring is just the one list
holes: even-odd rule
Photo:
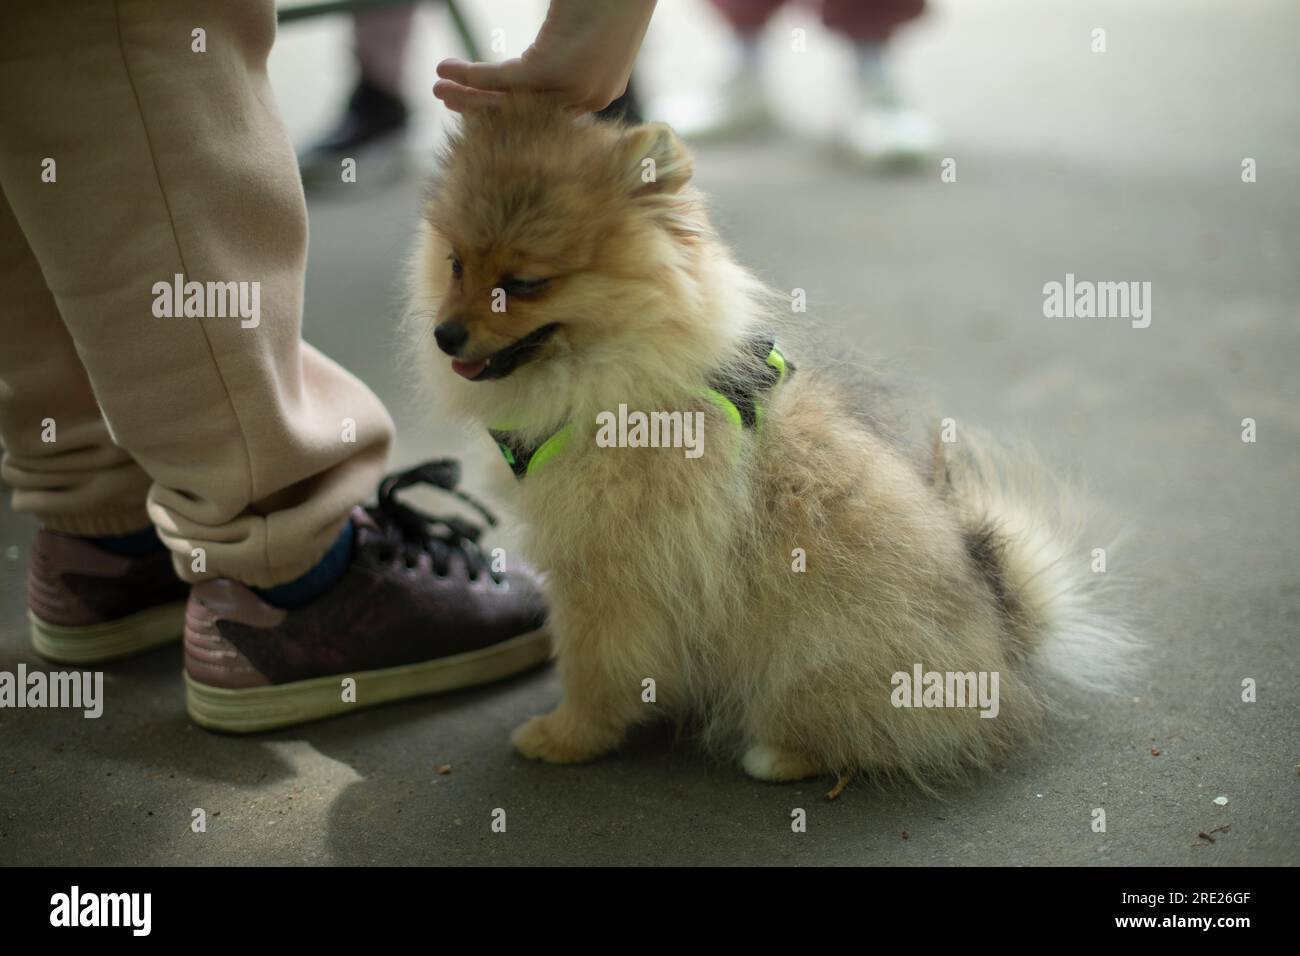
[[1100, 570], [1112, 542], [1093, 540], [1083, 494], [1053, 476], [1032, 449], [970, 429], [948, 445], [936, 436], [935, 470], [997, 600], [1013, 658], [1079, 687], [1121, 689], [1134, 671], [1136, 643], [1123, 589]]

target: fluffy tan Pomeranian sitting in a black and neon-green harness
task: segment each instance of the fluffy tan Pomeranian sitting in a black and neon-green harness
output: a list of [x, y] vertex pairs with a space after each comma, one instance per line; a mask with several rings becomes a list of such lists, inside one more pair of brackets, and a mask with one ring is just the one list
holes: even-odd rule
[[764, 780], [991, 763], [1050, 665], [1121, 662], [1076, 512], [1024, 451], [881, 424], [690, 176], [667, 126], [510, 96], [429, 202], [422, 364], [500, 446], [551, 602], [563, 700], [515, 747], [575, 763], [668, 718]]

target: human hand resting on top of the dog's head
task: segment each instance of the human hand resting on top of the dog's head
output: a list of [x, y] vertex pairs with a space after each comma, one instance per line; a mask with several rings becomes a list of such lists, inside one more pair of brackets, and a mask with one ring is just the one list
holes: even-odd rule
[[537, 39], [503, 62], [443, 60], [433, 94], [458, 113], [514, 91], [549, 92], [582, 112], [628, 88], [655, 0], [551, 0]]

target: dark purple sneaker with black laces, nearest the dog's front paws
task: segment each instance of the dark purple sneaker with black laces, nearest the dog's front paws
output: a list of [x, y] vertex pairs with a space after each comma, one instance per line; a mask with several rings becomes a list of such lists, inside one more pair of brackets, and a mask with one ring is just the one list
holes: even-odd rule
[[499, 680], [546, 661], [546, 606], [533, 572], [493, 571], [478, 527], [395, 498], [430, 484], [495, 523], [455, 490], [458, 479], [454, 460], [385, 479], [380, 503], [352, 512], [348, 570], [306, 607], [272, 607], [231, 580], [195, 585], [185, 626], [190, 717], [212, 730], [272, 730]]

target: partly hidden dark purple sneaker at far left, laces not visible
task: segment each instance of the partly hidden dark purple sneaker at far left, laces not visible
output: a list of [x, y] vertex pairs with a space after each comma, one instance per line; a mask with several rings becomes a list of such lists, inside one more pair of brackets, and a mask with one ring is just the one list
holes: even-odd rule
[[61, 663], [138, 654], [181, 637], [188, 589], [166, 549], [129, 557], [38, 531], [27, 568], [31, 644]]

